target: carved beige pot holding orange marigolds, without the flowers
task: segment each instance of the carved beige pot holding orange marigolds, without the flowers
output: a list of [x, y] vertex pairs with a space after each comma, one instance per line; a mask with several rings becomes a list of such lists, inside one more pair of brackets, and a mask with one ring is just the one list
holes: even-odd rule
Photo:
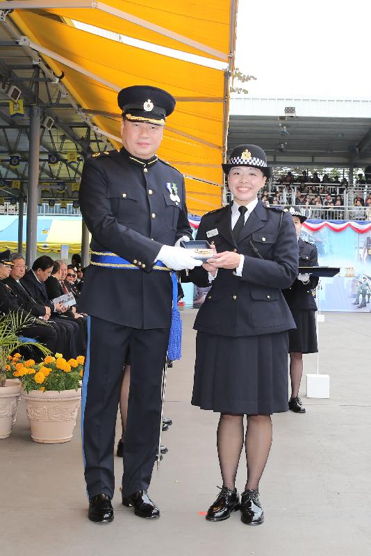
[[69, 442], [81, 402], [79, 390], [22, 390], [33, 441], [42, 444]]

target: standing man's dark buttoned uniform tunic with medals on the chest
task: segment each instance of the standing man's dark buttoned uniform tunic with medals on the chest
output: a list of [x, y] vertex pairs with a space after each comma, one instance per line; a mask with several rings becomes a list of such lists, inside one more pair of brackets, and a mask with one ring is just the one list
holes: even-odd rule
[[79, 310], [138, 329], [169, 327], [170, 273], [152, 267], [163, 245], [192, 236], [182, 174], [156, 156], [142, 161], [125, 149], [110, 151], [85, 162], [79, 199], [92, 252], [113, 252], [139, 269], [90, 264]]

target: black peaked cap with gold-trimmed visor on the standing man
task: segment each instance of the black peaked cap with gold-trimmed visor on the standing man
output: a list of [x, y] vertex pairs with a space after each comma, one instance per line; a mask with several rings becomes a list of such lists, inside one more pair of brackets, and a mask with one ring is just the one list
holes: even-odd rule
[[133, 85], [120, 90], [117, 102], [122, 115], [130, 122], [165, 125], [174, 112], [175, 99], [169, 92], [150, 85]]

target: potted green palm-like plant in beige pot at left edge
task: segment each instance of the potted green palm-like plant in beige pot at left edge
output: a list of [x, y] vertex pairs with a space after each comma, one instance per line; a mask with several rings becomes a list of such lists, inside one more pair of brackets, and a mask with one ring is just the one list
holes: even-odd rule
[[10, 436], [20, 399], [21, 384], [10, 367], [12, 354], [26, 345], [32, 345], [44, 355], [49, 354], [47, 347], [41, 343], [25, 342], [19, 338], [33, 321], [33, 317], [24, 318], [19, 313], [8, 313], [0, 319], [0, 439]]

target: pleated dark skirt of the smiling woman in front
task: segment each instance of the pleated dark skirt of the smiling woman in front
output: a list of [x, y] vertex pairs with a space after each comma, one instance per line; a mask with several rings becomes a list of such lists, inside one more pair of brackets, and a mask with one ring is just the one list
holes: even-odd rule
[[239, 338], [197, 332], [192, 405], [246, 415], [288, 411], [288, 332]]

